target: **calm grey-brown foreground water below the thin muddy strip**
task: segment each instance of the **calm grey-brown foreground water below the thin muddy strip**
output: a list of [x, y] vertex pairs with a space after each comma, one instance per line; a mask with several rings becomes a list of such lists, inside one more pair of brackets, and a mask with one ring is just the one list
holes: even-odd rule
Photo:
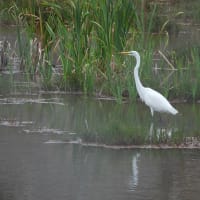
[[1, 199], [199, 199], [199, 151], [45, 144], [48, 135], [4, 130]]

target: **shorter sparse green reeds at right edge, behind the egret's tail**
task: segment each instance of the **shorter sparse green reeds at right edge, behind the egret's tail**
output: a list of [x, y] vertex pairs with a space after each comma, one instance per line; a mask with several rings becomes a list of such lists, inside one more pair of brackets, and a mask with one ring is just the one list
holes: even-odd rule
[[191, 47], [179, 53], [172, 52], [168, 57], [175, 70], [168, 79], [169, 93], [172, 98], [195, 102], [200, 98], [200, 51]]

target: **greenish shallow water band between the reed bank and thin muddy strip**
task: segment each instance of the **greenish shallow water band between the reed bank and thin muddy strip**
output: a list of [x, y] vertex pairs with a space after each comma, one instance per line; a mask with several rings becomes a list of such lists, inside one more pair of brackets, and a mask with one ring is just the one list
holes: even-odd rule
[[155, 114], [142, 103], [116, 104], [80, 95], [16, 94], [0, 98], [0, 129], [48, 135], [47, 143], [199, 147], [200, 105], [177, 104], [180, 114]]

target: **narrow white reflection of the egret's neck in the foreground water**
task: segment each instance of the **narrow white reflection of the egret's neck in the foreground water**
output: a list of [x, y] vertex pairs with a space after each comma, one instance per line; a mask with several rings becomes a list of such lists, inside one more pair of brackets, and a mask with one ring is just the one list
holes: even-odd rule
[[139, 179], [139, 169], [138, 169], [138, 162], [140, 158], [140, 153], [136, 153], [133, 155], [132, 158], [132, 176], [131, 180], [129, 181], [130, 190], [134, 191], [138, 185]]

